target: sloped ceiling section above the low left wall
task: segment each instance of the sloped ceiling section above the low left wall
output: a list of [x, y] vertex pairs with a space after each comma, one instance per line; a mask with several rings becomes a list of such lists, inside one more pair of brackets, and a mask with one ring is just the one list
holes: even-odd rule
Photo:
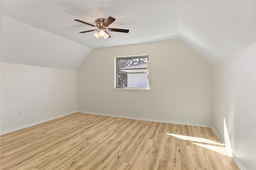
[[92, 50], [8, 16], [1, 21], [1, 62], [77, 70]]

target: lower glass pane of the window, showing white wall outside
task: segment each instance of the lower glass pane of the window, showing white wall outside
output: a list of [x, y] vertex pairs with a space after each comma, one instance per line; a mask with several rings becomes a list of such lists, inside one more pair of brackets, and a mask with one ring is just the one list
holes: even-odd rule
[[147, 73], [118, 73], [118, 87], [141, 87], [148, 86]]

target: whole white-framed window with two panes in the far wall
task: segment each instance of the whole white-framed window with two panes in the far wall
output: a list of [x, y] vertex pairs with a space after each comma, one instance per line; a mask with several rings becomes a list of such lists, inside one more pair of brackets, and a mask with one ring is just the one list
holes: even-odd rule
[[148, 89], [148, 55], [115, 57], [115, 88]]

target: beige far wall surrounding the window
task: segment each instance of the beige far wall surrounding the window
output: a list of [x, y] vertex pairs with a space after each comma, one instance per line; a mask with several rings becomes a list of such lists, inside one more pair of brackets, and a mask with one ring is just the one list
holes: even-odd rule
[[[143, 54], [150, 90], [114, 90], [114, 57]], [[210, 71], [180, 40], [93, 49], [78, 69], [78, 111], [211, 125]]]

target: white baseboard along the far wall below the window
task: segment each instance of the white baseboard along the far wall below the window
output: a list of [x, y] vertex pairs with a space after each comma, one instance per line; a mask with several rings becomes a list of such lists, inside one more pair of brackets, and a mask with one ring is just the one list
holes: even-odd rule
[[202, 124], [196, 124], [196, 123], [184, 123], [184, 122], [174, 122], [174, 121], [163, 121], [163, 120], [156, 120], [156, 119], [146, 119], [146, 118], [140, 118], [140, 117], [130, 117], [130, 116], [120, 116], [120, 115], [110, 115], [105, 113], [95, 113], [95, 112], [86, 112], [86, 111], [77, 111], [80, 113], [88, 113], [92, 115], [102, 115], [102, 116], [110, 116], [110, 117], [120, 117], [120, 118], [126, 118], [126, 119], [135, 119], [135, 120], [141, 120], [141, 121], [151, 121], [151, 122], [161, 122], [161, 123], [172, 123], [172, 124], [179, 124], [179, 125], [190, 125], [190, 126], [198, 126], [198, 127], [212, 127], [211, 125], [202, 125]]

